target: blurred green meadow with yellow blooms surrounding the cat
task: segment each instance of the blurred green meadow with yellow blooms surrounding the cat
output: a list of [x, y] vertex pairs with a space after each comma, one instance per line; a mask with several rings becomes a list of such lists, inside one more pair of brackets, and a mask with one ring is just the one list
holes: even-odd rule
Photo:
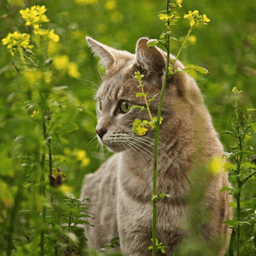
[[[34, 4], [38, 2], [34, 0], [0, 1], [0, 40], [15, 31], [20, 34], [26, 33], [30, 38], [34, 36], [33, 27], [26, 26], [27, 21], [19, 13], [20, 9], [26, 10]], [[61, 205], [59, 202], [63, 202], [66, 194], [70, 196], [69, 193], [73, 193], [79, 197], [84, 174], [94, 172], [102, 162], [101, 155], [95, 152], [95, 140], [92, 140], [97, 122], [93, 94], [95, 84], [100, 83], [100, 75], [95, 68], [96, 60], [88, 53], [84, 36], [90, 35], [106, 45], [131, 52], [134, 50], [137, 39], [143, 36], [142, 31], [152, 38], [159, 38], [162, 20], [164, 20], [156, 17], [156, 10], [160, 10], [160, 1], [158, 3], [150, 0], [139, 2], [136, 0], [46, 0], [44, 4], [48, 9], [47, 17], [50, 22], [42, 24], [41, 29], [49, 32], [54, 29], [54, 33], [59, 35], [58, 42], [47, 38], [47, 41], [51, 41], [52, 44], [48, 47], [45, 56], [37, 55], [35, 45], [29, 49], [29, 45], [21, 45], [21, 51], [12, 45], [9, 49], [14, 53], [12, 57], [7, 51], [7, 45], [0, 44], [0, 185], [2, 188], [0, 190], [0, 254], [4, 253], [3, 248], [6, 249], [9, 228], [13, 228], [12, 234], [15, 234], [11, 249], [15, 247], [16, 252], [13, 250], [13, 254], [40, 254], [39, 234], [43, 226], [39, 217], [42, 214], [42, 206], [51, 205], [48, 196], [45, 199], [39, 194], [39, 190], [44, 191], [43, 184], [46, 184], [46, 195], [50, 195], [50, 189], [53, 189], [55, 195], [62, 198], [59, 201], [56, 199], [56, 204]], [[179, 1], [176, 1], [176, 4], [179, 7]], [[211, 20], [203, 30], [200, 29], [202, 23], [198, 24], [193, 35], [188, 36], [180, 59], [185, 64], [198, 63], [209, 69], [210, 75], [207, 77], [198, 75], [197, 82], [205, 96], [214, 125], [221, 133], [229, 129], [228, 120], [232, 112], [230, 105], [234, 97], [240, 98], [241, 105], [246, 104], [249, 108], [255, 108], [256, 91], [252, 90], [252, 86], [255, 84], [256, 70], [254, 29], [256, 6], [252, 0], [237, 0], [236, 6], [241, 8], [234, 8], [230, 0], [226, 2], [198, 0], [196, 3], [193, 0], [186, 0], [182, 6], [184, 10], [196, 8], [199, 12], [203, 11]], [[176, 8], [176, 16], [182, 16], [181, 9]], [[166, 16], [165, 18], [170, 19]], [[187, 32], [190, 20], [188, 22], [187, 19], [175, 18], [174, 22], [179, 24], [172, 27], [177, 39], [170, 37], [170, 51], [175, 54], [185, 40], [184, 34]], [[155, 42], [151, 43], [154, 46]], [[162, 43], [159, 42], [158, 46], [162, 47]], [[45, 47], [43, 49], [46, 50]], [[20, 60], [18, 50], [23, 53], [27, 67], [35, 68], [33, 73], [27, 73], [27, 76], [24, 73], [20, 75], [25, 67]], [[56, 60], [53, 65], [54, 58]], [[57, 65], [58, 68], [62, 68], [56, 69], [55, 65], [60, 62], [66, 64]], [[42, 76], [42, 73], [36, 73], [38, 66], [44, 69], [49, 68], [49, 70], [44, 72], [40, 70], [44, 73]], [[45, 73], [45, 71], [51, 72]], [[74, 77], [79, 74], [77, 71], [80, 73], [80, 79]], [[69, 73], [72, 74], [72, 72], [74, 76], [70, 76]], [[53, 188], [50, 188], [48, 180], [48, 140], [45, 140], [42, 135], [43, 112], [40, 112], [39, 90], [35, 89], [38, 80], [42, 79], [45, 83], [45, 79], [49, 77], [52, 80], [47, 83], [50, 87], [48, 90], [51, 92], [48, 95], [48, 106], [53, 113], [47, 113], [47, 111], [44, 113], [47, 138], [51, 137], [53, 168], [59, 168], [60, 173], [66, 175], [65, 184]], [[244, 94], [237, 96], [230, 94], [235, 86], [243, 90]], [[43, 92], [47, 93], [47, 90]], [[150, 103], [150, 100], [148, 102]], [[48, 120], [49, 118], [51, 120]], [[69, 126], [71, 123], [74, 125]], [[63, 130], [62, 125], [63, 127], [67, 125], [67, 129]], [[78, 130], [77, 127], [79, 127]], [[251, 131], [255, 132], [255, 123], [250, 127]], [[233, 131], [230, 133], [234, 134]], [[230, 151], [231, 147], [233, 150], [238, 149], [238, 143], [234, 144], [237, 141], [236, 137], [221, 133], [220, 138], [226, 151]], [[252, 136], [248, 140], [248, 145], [255, 148], [255, 143], [255, 136]], [[43, 178], [41, 177], [43, 150], [47, 154], [45, 165], [42, 166], [46, 181], [39, 182], [40, 178]], [[249, 158], [252, 150], [243, 152], [247, 152], [248, 163], [255, 164], [253, 157]], [[242, 152], [237, 154], [241, 156]], [[104, 158], [108, 156], [109, 153], [104, 152]], [[233, 167], [229, 171], [230, 178], [232, 184], [236, 184], [237, 176], [234, 175], [236, 165], [233, 161], [231, 164]], [[226, 167], [229, 168], [229, 166]], [[243, 180], [247, 177], [246, 172], [251, 172], [250, 167], [248, 166], [244, 171], [245, 174], [241, 172], [239, 176]], [[253, 177], [251, 176], [245, 182], [241, 194], [241, 201], [252, 201], [252, 203], [248, 201], [250, 203], [244, 205], [241, 211], [242, 220], [248, 222], [256, 218]], [[55, 180], [58, 184], [58, 178]], [[236, 193], [237, 189], [234, 189], [234, 194]], [[48, 218], [52, 211], [49, 208], [46, 209]], [[234, 213], [237, 214], [236, 211]], [[14, 223], [13, 226], [10, 225], [11, 223]], [[58, 229], [58, 226], [55, 225], [54, 228]], [[50, 227], [46, 229], [49, 230], [48, 228]], [[53, 232], [53, 229], [50, 231], [46, 232], [49, 243], [54, 241], [53, 238], [50, 239], [51, 233], [56, 238], [60, 238], [62, 231]], [[243, 255], [255, 254], [253, 248], [256, 247], [256, 236], [253, 225], [247, 225], [247, 228], [242, 226], [241, 237]], [[65, 247], [66, 245], [60, 241], [62, 240], [58, 241], [59, 248]]]

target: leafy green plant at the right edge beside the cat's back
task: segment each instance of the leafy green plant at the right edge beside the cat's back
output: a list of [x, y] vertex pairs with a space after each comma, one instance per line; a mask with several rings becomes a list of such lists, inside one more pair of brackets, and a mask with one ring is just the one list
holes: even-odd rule
[[[242, 91], [238, 91], [236, 87], [232, 89], [232, 92], [234, 95], [240, 95], [242, 93]], [[250, 180], [255, 180], [256, 175], [256, 165], [248, 158], [248, 155], [255, 154], [253, 147], [248, 146], [248, 141], [252, 138], [249, 130], [255, 124], [253, 120], [255, 110], [247, 109], [246, 113], [243, 113], [237, 100], [233, 106], [234, 112], [230, 120], [233, 131], [224, 132], [237, 139], [237, 142], [231, 146], [232, 151], [227, 154], [230, 162], [227, 161], [224, 164], [225, 170], [230, 172], [230, 177], [233, 180], [233, 188], [221, 188], [221, 191], [230, 190], [230, 194], [235, 199], [235, 201], [229, 203], [229, 206], [234, 208], [236, 218], [225, 221], [225, 223], [232, 228], [229, 254], [234, 255], [234, 251], [236, 251], [236, 255], [244, 255], [245, 253], [249, 253], [248, 250], [255, 254], [256, 249], [253, 239], [246, 241], [245, 236], [242, 236], [243, 229], [247, 229], [248, 225], [256, 225], [255, 219], [250, 218], [253, 208], [255, 209], [255, 198], [248, 199], [243, 195], [246, 183]], [[234, 182], [234, 180], [236, 180], [236, 182]], [[255, 230], [252, 231], [251, 236], [255, 236]], [[244, 245], [244, 248], [242, 245]]]

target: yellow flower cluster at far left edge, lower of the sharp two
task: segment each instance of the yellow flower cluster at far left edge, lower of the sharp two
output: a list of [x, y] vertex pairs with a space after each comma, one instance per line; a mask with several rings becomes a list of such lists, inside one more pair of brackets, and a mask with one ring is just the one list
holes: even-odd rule
[[14, 33], [9, 33], [6, 38], [2, 39], [3, 45], [7, 45], [7, 49], [11, 51], [11, 55], [14, 56], [14, 52], [16, 49], [24, 48], [32, 48], [33, 46], [29, 45], [30, 35], [23, 33], [20, 34], [17, 31]]

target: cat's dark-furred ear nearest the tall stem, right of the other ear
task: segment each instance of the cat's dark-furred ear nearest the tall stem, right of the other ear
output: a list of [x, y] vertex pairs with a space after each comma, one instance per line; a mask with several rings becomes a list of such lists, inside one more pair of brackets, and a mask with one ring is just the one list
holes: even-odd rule
[[147, 42], [148, 38], [146, 37], [137, 41], [134, 65], [142, 70], [144, 75], [161, 74], [165, 68], [166, 59], [159, 48], [155, 46], [148, 47]]

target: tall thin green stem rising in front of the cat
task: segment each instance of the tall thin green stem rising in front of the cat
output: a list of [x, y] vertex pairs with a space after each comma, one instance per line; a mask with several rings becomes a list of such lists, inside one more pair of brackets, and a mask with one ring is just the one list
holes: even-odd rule
[[[167, 0], [166, 6], [167, 15], [169, 15], [169, 0]], [[169, 22], [168, 27], [169, 27]], [[155, 145], [154, 145], [154, 159], [153, 159], [153, 195], [157, 195], [157, 157], [158, 157], [158, 142], [159, 142], [159, 128], [160, 128], [160, 118], [163, 107], [163, 97], [165, 93], [165, 87], [168, 79], [168, 69], [169, 69], [169, 58], [170, 58], [170, 36], [167, 33], [167, 58], [166, 58], [166, 68], [165, 68], [165, 76], [163, 81], [163, 86], [161, 89], [159, 104], [158, 104], [158, 112], [157, 112], [157, 122], [156, 122], [156, 130], [155, 130]], [[152, 239], [153, 239], [153, 250], [152, 255], [157, 255], [156, 250], [156, 239], [157, 239], [157, 202], [153, 200], [153, 223], [152, 223]]]

